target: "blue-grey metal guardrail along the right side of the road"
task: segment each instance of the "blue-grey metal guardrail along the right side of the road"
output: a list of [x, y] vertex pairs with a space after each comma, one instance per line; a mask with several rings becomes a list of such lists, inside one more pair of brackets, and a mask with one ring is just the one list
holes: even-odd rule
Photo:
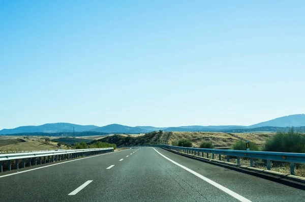
[[242, 151], [242, 150], [219, 150], [219, 149], [203, 149], [203, 148], [187, 148], [187, 147], [176, 147], [170, 145], [138, 145], [132, 147], [159, 147], [166, 148], [169, 150], [174, 150], [177, 152], [183, 152], [186, 154], [198, 155], [209, 158], [209, 154], [212, 154], [212, 159], [214, 159], [214, 154], [219, 155], [219, 160], [221, 160], [221, 155], [227, 156], [227, 162], [230, 162], [230, 156], [237, 157], [237, 165], [240, 165], [240, 157], [250, 158], [250, 166], [253, 167], [253, 159], [263, 159], [266, 160], [267, 170], [271, 169], [271, 161], [280, 161], [290, 163], [290, 175], [294, 175], [294, 164], [295, 163], [305, 163], [304, 153], [284, 153], [284, 152], [257, 152], [257, 151]]

